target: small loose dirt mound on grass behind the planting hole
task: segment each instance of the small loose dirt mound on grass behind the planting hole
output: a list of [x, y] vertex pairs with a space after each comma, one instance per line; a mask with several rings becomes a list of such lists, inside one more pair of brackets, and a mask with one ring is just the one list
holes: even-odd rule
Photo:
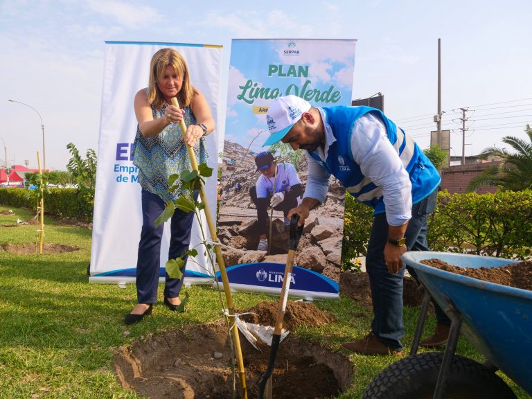
[[[276, 322], [278, 303], [278, 301], [261, 302], [253, 308], [242, 310], [242, 312], [238, 311], [238, 313], [256, 313], [245, 314], [240, 319], [248, 323], [273, 327]], [[335, 318], [331, 314], [322, 312], [314, 303], [287, 301], [283, 328], [293, 331], [297, 326], [323, 326], [323, 324], [333, 321]]]

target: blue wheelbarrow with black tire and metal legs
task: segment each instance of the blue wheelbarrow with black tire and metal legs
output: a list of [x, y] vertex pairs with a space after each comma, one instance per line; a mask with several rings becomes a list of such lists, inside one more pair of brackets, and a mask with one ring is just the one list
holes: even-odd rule
[[[402, 256], [425, 287], [411, 353], [384, 369], [364, 398], [516, 398], [495, 371], [532, 393], [532, 291], [461, 276], [420, 263], [439, 259], [459, 267], [501, 267], [513, 260], [410, 251]], [[416, 354], [430, 296], [451, 319], [444, 353]], [[460, 333], [487, 359], [479, 364], [455, 355]]]

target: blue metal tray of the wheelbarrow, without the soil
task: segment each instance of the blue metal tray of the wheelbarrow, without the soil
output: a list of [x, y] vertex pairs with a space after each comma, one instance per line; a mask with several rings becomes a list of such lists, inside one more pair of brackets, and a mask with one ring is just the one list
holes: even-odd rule
[[532, 393], [532, 291], [481, 281], [420, 263], [433, 258], [453, 266], [477, 268], [517, 262], [433, 251], [409, 251], [402, 256], [402, 260], [416, 270], [420, 281], [447, 316], [452, 317], [453, 308], [460, 314], [461, 333], [472, 346]]

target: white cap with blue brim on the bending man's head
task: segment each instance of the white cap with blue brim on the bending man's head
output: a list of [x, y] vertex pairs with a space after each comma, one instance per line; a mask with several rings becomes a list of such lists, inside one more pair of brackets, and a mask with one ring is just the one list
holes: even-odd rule
[[303, 112], [309, 109], [310, 103], [301, 97], [293, 95], [277, 97], [266, 115], [269, 137], [263, 147], [283, 139], [294, 123], [301, 119]]

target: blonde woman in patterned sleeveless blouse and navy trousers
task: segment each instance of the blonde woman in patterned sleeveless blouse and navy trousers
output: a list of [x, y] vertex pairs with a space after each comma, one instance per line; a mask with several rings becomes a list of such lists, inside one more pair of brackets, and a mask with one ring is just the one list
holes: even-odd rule
[[[180, 108], [172, 105], [173, 97], [177, 98]], [[193, 87], [184, 57], [172, 48], [163, 48], [153, 55], [148, 87], [136, 93], [134, 110], [139, 124], [133, 164], [139, 168], [143, 222], [136, 264], [137, 303], [125, 316], [126, 324], [138, 323], [151, 314], [152, 305], [157, 302], [164, 226], [156, 227], [154, 222], [165, 204], [181, 194], [179, 187], [169, 191], [168, 177], [181, 170], [190, 170], [185, 143], [199, 155], [199, 163], [207, 161], [204, 136], [215, 128], [209, 104]], [[179, 127], [181, 121], [187, 126], [185, 137]], [[179, 186], [179, 181], [175, 184]], [[193, 215], [175, 209], [170, 222], [168, 258], [181, 257], [188, 250]], [[185, 268], [186, 263], [182, 272]], [[164, 303], [172, 311], [184, 311], [179, 299], [182, 284], [182, 279], [166, 274]]]

